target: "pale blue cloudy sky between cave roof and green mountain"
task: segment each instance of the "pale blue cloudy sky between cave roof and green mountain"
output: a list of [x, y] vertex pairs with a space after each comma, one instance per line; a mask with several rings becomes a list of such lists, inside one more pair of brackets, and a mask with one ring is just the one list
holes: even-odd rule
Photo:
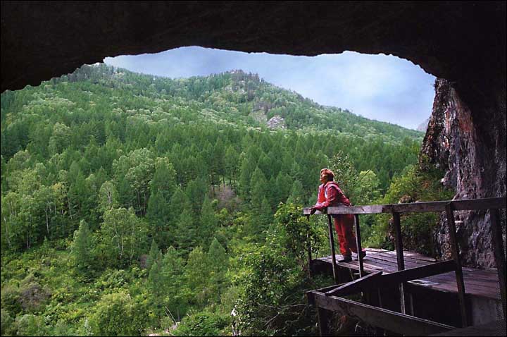
[[181, 47], [158, 54], [107, 57], [104, 63], [168, 78], [242, 69], [318, 104], [415, 129], [431, 114], [434, 76], [392, 55], [291, 56]]

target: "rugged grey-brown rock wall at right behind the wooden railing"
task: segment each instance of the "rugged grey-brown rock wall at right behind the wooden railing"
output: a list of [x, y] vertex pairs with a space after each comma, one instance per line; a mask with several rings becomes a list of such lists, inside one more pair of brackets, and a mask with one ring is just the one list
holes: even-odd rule
[[[502, 129], [503, 128], [503, 129]], [[504, 130], [502, 123], [489, 125], [491, 134]], [[444, 169], [442, 183], [452, 188], [454, 199], [505, 197], [506, 145], [488, 147], [480, 137], [480, 125], [451, 83], [435, 81], [435, 98], [421, 154]], [[498, 166], [496, 166], [498, 165]], [[495, 169], [492, 169], [496, 166]], [[465, 265], [494, 267], [488, 212], [455, 212], [461, 257]], [[501, 211], [505, 242], [505, 210]], [[444, 214], [434, 231], [437, 251], [450, 258], [449, 230]]]

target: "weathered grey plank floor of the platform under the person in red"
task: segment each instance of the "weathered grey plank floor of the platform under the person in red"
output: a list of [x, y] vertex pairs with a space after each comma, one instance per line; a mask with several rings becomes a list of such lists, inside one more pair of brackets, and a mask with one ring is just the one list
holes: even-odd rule
[[[366, 248], [366, 257], [363, 259], [363, 266], [366, 273], [381, 270], [383, 274], [389, 274], [398, 271], [396, 263], [396, 252], [389, 250], [380, 250], [375, 248]], [[436, 262], [431, 257], [425, 257], [415, 252], [403, 252], [405, 258], [405, 268], [415, 268]], [[337, 255], [337, 261], [342, 259], [342, 255]], [[318, 262], [317, 262], [318, 261]], [[331, 256], [320, 257], [315, 260], [317, 263], [332, 264]], [[353, 255], [353, 261], [337, 265], [341, 268], [359, 271], [359, 262]], [[463, 267], [463, 278], [465, 281], [465, 292], [467, 295], [480, 296], [482, 298], [491, 298], [501, 300], [499, 278], [496, 269], [472, 269]], [[437, 276], [421, 278], [420, 280], [410, 281], [417, 286], [423, 286], [449, 293], [458, 293], [456, 286], [456, 276], [453, 271]]]

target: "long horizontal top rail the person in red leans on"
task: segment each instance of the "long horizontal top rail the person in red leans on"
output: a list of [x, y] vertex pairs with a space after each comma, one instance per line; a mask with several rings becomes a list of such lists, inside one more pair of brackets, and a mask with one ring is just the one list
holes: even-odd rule
[[[375, 204], [349, 207], [327, 207], [327, 212], [315, 214], [378, 214], [378, 213], [408, 213], [408, 212], [444, 212], [446, 204], [452, 203], [456, 211], [478, 209], [505, 209], [506, 197], [482, 198], [470, 200], [444, 200], [436, 202], [412, 202], [409, 204]], [[303, 209], [303, 214], [310, 214], [311, 209]]]

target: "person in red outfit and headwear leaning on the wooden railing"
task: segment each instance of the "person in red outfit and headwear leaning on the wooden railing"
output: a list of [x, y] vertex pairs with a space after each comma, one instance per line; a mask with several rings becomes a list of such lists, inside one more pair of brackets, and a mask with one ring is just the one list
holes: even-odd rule
[[[320, 182], [322, 185], [318, 189], [317, 203], [311, 207], [311, 214], [315, 211], [323, 211], [330, 206], [350, 206], [350, 200], [340, 190], [337, 183], [334, 182], [334, 173], [330, 169], [320, 170]], [[334, 219], [334, 229], [338, 235], [339, 248], [343, 259], [339, 262], [352, 261], [352, 253], [357, 253], [356, 235], [353, 234], [354, 224], [353, 214], [332, 215]], [[365, 257], [365, 250], [361, 251], [361, 257]]]

